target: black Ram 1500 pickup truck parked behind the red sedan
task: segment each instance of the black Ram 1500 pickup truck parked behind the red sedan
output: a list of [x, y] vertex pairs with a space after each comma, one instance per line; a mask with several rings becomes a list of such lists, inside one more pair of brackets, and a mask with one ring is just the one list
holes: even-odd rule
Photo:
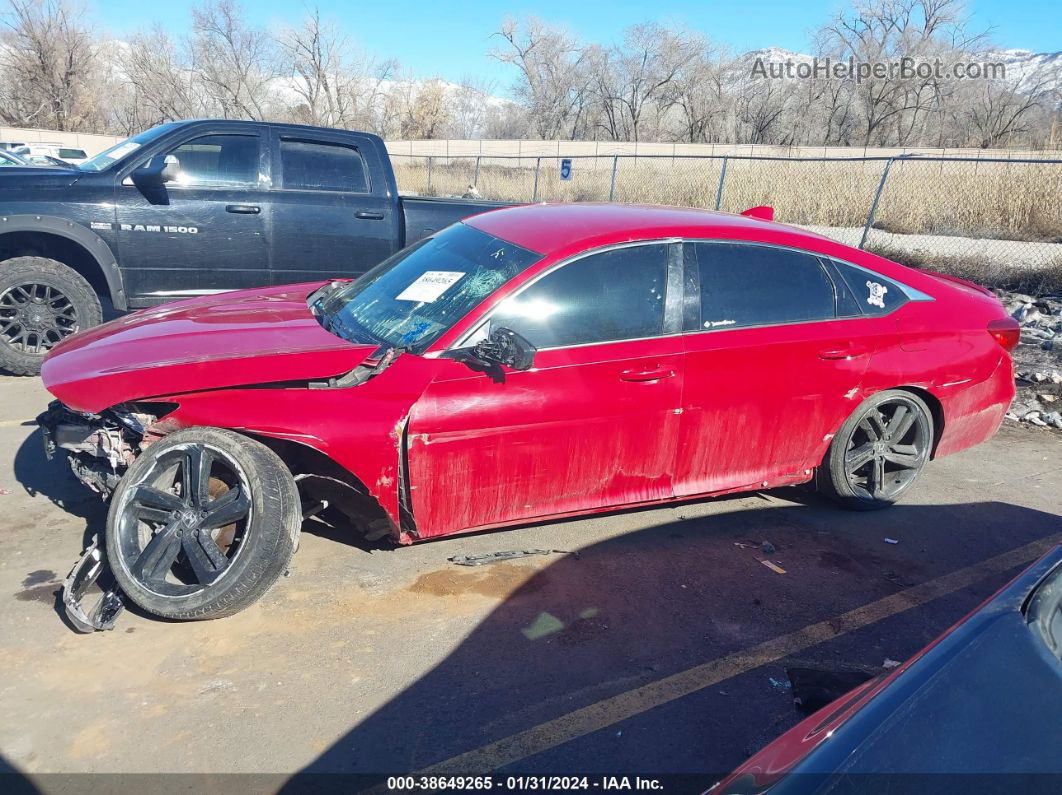
[[39, 371], [116, 310], [349, 277], [502, 206], [399, 196], [383, 141], [296, 124], [179, 121], [78, 167], [0, 170], [0, 368]]

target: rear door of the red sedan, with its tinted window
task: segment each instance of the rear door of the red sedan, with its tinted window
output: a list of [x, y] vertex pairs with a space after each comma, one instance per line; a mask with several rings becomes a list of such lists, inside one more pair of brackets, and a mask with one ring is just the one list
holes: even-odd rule
[[806, 480], [859, 403], [875, 346], [817, 256], [685, 245], [685, 390], [675, 494]]

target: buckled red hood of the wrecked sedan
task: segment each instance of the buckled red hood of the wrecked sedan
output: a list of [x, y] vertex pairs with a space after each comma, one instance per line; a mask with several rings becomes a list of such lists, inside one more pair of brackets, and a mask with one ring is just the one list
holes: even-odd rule
[[45, 386], [71, 409], [203, 390], [329, 378], [374, 350], [325, 331], [306, 304], [321, 282], [165, 304], [83, 331], [48, 355]]

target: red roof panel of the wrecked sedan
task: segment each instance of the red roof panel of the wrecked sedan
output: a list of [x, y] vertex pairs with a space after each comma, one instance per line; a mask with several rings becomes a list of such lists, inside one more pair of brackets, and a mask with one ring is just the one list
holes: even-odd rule
[[790, 245], [804, 239], [809, 247], [827, 241], [794, 226], [730, 212], [631, 204], [520, 205], [474, 215], [465, 223], [544, 255], [667, 238], [732, 238]]

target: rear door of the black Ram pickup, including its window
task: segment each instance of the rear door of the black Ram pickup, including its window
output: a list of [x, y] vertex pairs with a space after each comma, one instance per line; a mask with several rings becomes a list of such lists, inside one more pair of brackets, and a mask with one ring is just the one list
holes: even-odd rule
[[400, 247], [396, 202], [367, 138], [273, 136], [275, 283], [358, 276]]

